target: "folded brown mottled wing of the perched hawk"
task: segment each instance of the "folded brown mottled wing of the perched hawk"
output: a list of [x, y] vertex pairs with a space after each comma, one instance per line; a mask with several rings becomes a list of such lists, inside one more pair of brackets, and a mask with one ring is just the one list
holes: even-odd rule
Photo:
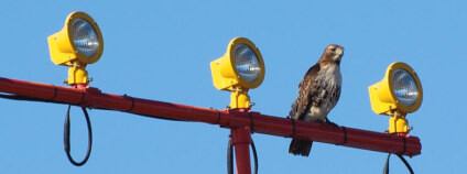
[[300, 83], [298, 97], [292, 104], [292, 109], [289, 113], [291, 118], [295, 120], [303, 120], [306, 111], [309, 110], [309, 107], [312, 107], [313, 96], [317, 95], [317, 83], [315, 81], [315, 78], [319, 69], [319, 64], [315, 64], [308, 69], [308, 72], [306, 72], [305, 76]]

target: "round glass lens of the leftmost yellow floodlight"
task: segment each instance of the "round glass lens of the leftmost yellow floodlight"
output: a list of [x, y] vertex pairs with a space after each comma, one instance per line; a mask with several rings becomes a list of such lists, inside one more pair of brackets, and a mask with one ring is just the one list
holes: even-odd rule
[[93, 25], [88, 21], [84, 19], [75, 20], [75, 22], [73, 22], [72, 33], [73, 42], [75, 42], [79, 52], [86, 56], [93, 56], [96, 54], [99, 48], [99, 39]]

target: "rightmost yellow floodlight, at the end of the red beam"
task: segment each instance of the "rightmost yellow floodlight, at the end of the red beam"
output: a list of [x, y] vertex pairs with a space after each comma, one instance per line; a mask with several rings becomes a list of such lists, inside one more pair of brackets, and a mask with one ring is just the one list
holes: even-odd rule
[[389, 65], [384, 78], [368, 87], [372, 110], [389, 115], [389, 133], [406, 134], [410, 131], [406, 113], [422, 105], [423, 89], [415, 70], [405, 63]]

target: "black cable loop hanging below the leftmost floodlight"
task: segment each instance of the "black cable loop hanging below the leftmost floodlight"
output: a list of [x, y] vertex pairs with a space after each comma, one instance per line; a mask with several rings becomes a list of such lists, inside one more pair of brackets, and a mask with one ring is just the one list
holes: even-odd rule
[[93, 146], [93, 130], [91, 130], [91, 127], [90, 127], [89, 115], [86, 111], [86, 108], [82, 107], [82, 110], [85, 113], [86, 124], [87, 124], [87, 128], [88, 128], [88, 149], [87, 149], [85, 159], [82, 162], [76, 162], [75, 160], [73, 160], [72, 154], [69, 153], [69, 151], [72, 150], [72, 145], [69, 144], [69, 137], [70, 137], [69, 135], [69, 132], [70, 132], [69, 131], [69, 128], [70, 128], [69, 109], [70, 108], [72, 108], [72, 106], [68, 105], [68, 110], [66, 111], [66, 117], [65, 117], [64, 146], [65, 146], [66, 156], [68, 157], [69, 162], [73, 165], [82, 166], [82, 165], [86, 164], [86, 162], [88, 161], [89, 155], [90, 155], [90, 150], [91, 150], [91, 146]]

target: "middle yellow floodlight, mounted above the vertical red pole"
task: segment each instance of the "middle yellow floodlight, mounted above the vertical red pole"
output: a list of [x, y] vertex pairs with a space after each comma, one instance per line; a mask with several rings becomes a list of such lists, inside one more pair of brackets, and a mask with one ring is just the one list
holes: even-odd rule
[[230, 108], [249, 108], [248, 89], [257, 88], [264, 79], [264, 61], [258, 47], [248, 39], [230, 41], [222, 57], [210, 62], [214, 86], [234, 91]]

